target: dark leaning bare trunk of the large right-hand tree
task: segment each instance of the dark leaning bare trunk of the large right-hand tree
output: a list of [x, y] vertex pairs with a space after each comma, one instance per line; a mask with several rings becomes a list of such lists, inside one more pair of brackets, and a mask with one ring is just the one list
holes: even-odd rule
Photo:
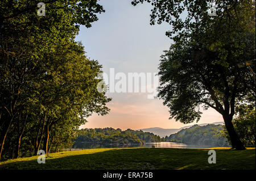
[[245, 146], [243, 146], [242, 141], [240, 140], [240, 138], [238, 137], [233, 123], [232, 123], [232, 117], [230, 115], [222, 115], [224, 122], [225, 122], [225, 127], [226, 130], [229, 133], [229, 137], [230, 137], [230, 141], [232, 144], [232, 148], [236, 149], [236, 150], [245, 150]]

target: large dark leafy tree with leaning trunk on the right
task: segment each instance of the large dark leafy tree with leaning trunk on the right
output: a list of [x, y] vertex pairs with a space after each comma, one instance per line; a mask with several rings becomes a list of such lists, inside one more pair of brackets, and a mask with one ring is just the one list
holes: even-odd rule
[[237, 66], [252, 61], [255, 69], [255, 1], [216, 1], [217, 16], [208, 15], [209, 1], [148, 2], [151, 24], [157, 19], [172, 26], [167, 35], [174, 44], [159, 65], [159, 97], [170, 119], [199, 121], [200, 107], [211, 107], [221, 113], [233, 148], [245, 149], [232, 119], [236, 106], [255, 102], [253, 75]]

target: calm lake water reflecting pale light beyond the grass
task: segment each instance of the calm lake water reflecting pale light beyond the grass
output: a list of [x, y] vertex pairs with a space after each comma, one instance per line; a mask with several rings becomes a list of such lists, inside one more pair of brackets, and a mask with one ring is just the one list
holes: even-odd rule
[[216, 146], [210, 145], [187, 145], [179, 142], [147, 142], [146, 145], [85, 145], [83, 148], [75, 148], [71, 150], [81, 150], [81, 149], [96, 149], [96, 148], [211, 148]]

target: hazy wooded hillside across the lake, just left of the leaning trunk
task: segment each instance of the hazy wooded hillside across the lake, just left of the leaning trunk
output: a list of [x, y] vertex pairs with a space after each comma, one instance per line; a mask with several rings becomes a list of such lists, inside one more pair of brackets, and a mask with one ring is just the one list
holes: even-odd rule
[[193, 145], [229, 146], [228, 140], [225, 138], [223, 126], [214, 124], [208, 124], [203, 127], [193, 125], [193, 127], [171, 134], [166, 138], [166, 141]]

